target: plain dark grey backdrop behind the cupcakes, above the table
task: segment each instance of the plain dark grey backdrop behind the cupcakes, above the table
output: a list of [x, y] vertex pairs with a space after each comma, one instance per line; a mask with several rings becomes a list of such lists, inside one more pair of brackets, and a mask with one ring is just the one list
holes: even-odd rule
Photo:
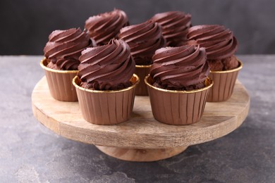
[[84, 27], [90, 15], [121, 8], [130, 24], [142, 23], [155, 13], [184, 11], [193, 25], [221, 24], [233, 30], [239, 54], [275, 53], [275, 1], [197, 0], [25, 0], [0, 1], [0, 55], [43, 54], [53, 30]]

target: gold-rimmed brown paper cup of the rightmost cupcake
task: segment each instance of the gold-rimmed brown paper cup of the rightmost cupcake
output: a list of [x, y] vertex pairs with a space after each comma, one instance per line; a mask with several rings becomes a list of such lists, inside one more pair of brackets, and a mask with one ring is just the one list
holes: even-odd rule
[[213, 87], [209, 90], [207, 102], [219, 102], [228, 100], [235, 87], [238, 72], [243, 68], [243, 63], [239, 62], [236, 69], [224, 71], [210, 71], [209, 77], [213, 80]]

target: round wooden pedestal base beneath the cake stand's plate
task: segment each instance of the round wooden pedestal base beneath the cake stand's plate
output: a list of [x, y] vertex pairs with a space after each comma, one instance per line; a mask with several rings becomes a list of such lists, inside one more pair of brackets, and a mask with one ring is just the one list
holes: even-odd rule
[[188, 146], [180, 146], [171, 149], [126, 149], [118, 147], [96, 146], [97, 149], [107, 155], [120, 160], [148, 162], [171, 158], [185, 151]]

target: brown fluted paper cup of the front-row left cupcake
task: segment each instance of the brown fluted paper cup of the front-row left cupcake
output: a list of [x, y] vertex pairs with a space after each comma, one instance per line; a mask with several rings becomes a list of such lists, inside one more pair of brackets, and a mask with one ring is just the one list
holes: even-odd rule
[[137, 75], [130, 80], [133, 85], [121, 90], [99, 91], [80, 87], [78, 76], [73, 79], [78, 94], [82, 116], [96, 125], [114, 125], [130, 118], [135, 99], [135, 87], [140, 82]]

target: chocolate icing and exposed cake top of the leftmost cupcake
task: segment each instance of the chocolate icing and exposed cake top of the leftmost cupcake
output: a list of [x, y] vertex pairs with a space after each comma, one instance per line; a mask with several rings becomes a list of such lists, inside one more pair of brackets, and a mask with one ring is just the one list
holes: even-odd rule
[[49, 42], [44, 47], [44, 56], [50, 61], [47, 67], [55, 70], [78, 70], [78, 58], [87, 46], [94, 46], [94, 42], [80, 28], [51, 32]]

